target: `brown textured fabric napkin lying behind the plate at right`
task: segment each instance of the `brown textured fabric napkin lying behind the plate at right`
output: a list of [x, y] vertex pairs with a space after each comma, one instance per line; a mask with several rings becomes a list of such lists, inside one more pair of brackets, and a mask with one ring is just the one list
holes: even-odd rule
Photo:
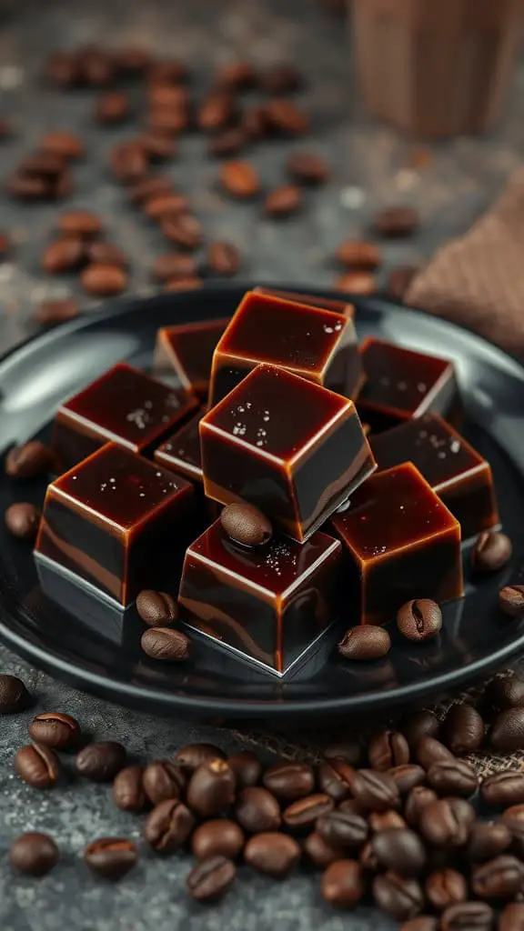
[[524, 356], [524, 169], [466, 236], [436, 252], [404, 301]]

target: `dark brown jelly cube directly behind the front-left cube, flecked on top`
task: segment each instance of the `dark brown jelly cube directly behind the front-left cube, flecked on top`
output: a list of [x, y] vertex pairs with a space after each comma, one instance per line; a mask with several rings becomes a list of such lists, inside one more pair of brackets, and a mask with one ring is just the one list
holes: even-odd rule
[[62, 404], [52, 440], [59, 468], [76, 466], [107, 442], [147, 454], [197, 406], [185, 390], [120, 363]]

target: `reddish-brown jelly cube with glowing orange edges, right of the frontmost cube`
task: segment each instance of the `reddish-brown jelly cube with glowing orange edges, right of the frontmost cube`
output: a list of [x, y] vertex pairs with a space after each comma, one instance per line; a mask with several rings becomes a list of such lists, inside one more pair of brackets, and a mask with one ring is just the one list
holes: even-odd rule
[[355, 623], [392, 620], [413, 598], [462, 597], [460, 524], [412, 463], [376, 473], [328, 526], [348, 558]]

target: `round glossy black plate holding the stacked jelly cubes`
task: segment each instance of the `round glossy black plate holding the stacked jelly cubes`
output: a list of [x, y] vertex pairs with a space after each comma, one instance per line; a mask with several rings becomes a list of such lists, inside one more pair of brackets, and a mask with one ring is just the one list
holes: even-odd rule
[[[63, 398], [118, 360], [147, 367], [159, 326], [225, 317], [245, 287], [216, 287], [113, 304], [35, 337], [0, 362], [2, 449], [45, 431]], [[344, 663], [319, 654], [293, 679], [277, 681], [210, 647], [183, 667], [150, 663], [138, 637], [113, 642], [57, 609], [40, 591], [31, 550], [0, 529], [0, 637], [37, 666], [78, 687], [161, 713], [230, 719], [302, 716], [391, 707], [476, 680], [524, 653], [524, 619], [504, 621], [497, 590], [524, 564], [524, 369], [501, 350], [447, 322], [380, 300], [358, 300], [359, 335], [380, 335], [457, 364], [466, 402], [466, 435], [493, 467], [512, 565], [446, 609], [441, 636], [426, 646], [393, 640], [386, 660]], [[0, 510], [41, 504], [45, 484], [0, 479]]]

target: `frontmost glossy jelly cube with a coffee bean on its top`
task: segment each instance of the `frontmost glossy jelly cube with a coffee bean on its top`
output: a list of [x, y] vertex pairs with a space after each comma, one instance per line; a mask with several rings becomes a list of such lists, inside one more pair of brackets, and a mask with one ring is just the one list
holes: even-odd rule
[[190, 627], [282, 675], [331, 627], [340, 580], [338, 540], [315, 533], [301, 546], [273, 536], [248, 548], [220, 520], [186, 552], [179, 602]]

